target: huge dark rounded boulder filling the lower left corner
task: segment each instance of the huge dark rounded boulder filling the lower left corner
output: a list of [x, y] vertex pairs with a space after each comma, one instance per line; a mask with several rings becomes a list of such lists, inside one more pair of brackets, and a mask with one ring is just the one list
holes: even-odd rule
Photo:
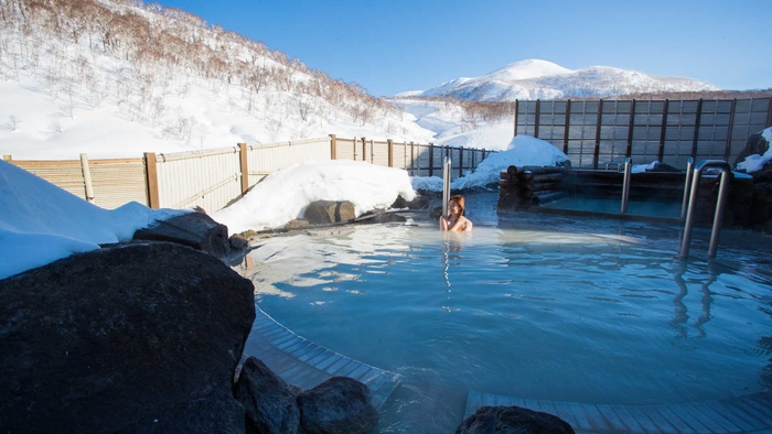
[[150, 432], [158, 423], [238, 432], [210, 430], [226, 420], [243, 426], [233, 398], [203, 402], [232, 397], [254, 319], [248, 280], [165, 242], [105, 248], [2, 280], [0, 432]]

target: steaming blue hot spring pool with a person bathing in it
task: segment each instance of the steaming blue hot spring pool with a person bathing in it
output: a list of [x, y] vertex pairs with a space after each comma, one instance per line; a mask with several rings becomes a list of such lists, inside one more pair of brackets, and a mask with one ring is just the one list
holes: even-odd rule
[[494, 195], [468, 203], [471, 234], [353, 226], [249, 253], [267, 314], [401, 375], [382, 432], [452, 432], [469, 390], [643, 404], [772, 388], [769, 237], [725, 230], [708, 261], [697, 229], [682, 261], [676, 226], [497, 216]]

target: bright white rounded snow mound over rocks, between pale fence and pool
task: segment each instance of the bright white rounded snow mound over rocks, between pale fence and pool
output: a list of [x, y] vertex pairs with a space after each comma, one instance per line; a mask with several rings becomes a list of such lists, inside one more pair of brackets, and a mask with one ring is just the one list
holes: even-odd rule
[[283, 227], [315, 200], [350, 200], [360, 216], [389, 207], [398, 195], [407, 200], [416, 195], [403, 170], [361, 161], [307, 162], [270, 174], [212, 218], [238, 234]]

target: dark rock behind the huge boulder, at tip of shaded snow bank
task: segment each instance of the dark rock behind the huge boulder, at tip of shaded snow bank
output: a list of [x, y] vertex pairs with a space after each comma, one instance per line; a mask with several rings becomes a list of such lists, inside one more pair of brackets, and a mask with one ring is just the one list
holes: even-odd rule
[[135, 232], [136, 240], [170, 241], [223, 258], [230, 251], [228, 228], [204, 213], [186, 213]]

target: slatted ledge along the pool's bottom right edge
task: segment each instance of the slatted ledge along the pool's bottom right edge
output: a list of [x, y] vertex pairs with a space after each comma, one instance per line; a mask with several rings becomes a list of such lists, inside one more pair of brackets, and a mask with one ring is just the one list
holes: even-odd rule
[[671, 405], [597, 405], [470, 391], [464, 419], [486, 405], [554, 414], [577, 433], [772, 433], [772, 391]]

